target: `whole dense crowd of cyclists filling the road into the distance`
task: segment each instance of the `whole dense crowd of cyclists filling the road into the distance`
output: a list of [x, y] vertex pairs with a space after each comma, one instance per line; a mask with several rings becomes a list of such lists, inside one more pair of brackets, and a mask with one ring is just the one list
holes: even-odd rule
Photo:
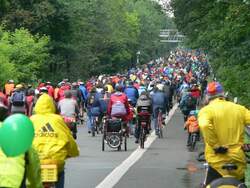
[[[95, 131], [93, 128], [95, 118], [100, 122], [104, 116], [120, 117], [126, 126], [127, 135], [129, 132], [133, 133], [136, 138], [135, 143], [138, 143], [140, 132], [138, 123], [134, 127], [127, 126], [135, 114], [137, 122], [140, 121], [140, 116], [148, 116], [149, 122], [152, 120], [153, 123], [152, 127], [149, 124], [147, 132], [153, 129], [158, 135], [157, 117], [160, 109], [167, 116], [173, 105], [178, 103], [188, 132], [194, 130], [193, 126], [195, 131], [199, 131], [197, 127], [200, 127], [203, 133], [206, 160], [211, 165], [209, 176], [211, 182], [218, 177], [215, 171], [223, 173], [218, 167], [222, 158], [224, 161], [236, 160], [239, 165], [244, 166], [244, 153], [238, 151], [240, 146], [237, 145], [243, 143], [243, 127], [250, 123], [250, 115], [244, 107], [224, 100], [223, 89], [219, 83], [207, 84], [209, 74], [209, 65], [204, 53], [176, 50], [167, 58], [159, 58], [116, 75], [94, 76], [85, 82], [80, 79], [76, 82], [63, 79], [57, 85], [53, 85], [49, 81], [39, 81], [35, 87], [31, 84], [16, 84], [13, 80], [9, 80], [0, 90], [0, 121], [15, 113], [30, 117], [35, 128], [32, 153], [38, 154], [40, 163], [46, 160], [57, 161], [59, 175], [56, 187], [61, 188], [64, 186], [65, 160], [79, 155], [77, 144], [65, 124], [65, 117], [74, 118], [82, 123], [81, 120], [86, 114], [88, 133]], [[201, 105], [204, 98], [207, 99], [208, 106], [202, 109], [197, 117], [198, 112], [196, 114], [193, 112]], [[227, 118], [227, 115], [230, 118]], [[223, 125], [217, 128], [215, 127], [217, 124]], [[227, 129], [227, 126], [230, 129]], [[225, 134], [228, 136], [223, 136]], [[74, 138], [76, 139], [76, 136]], [[190, 135], [187, 141], [187, 145], [189, 144]], [[231, 146], [234, 148], [231, 149]], [[221, 157], [214, 153], [215, 149], [221, 148], [227, 148], [228, 155]], [[1, 158], [4, 158], [2, 153], [0, 169], [3, 165]], [[23, 172], [21, 176], [23, 179], [13, 178], [13, 174], [12, 176], [5, 174], [3, 177], [0, 170], [0, 179], [6, 180], [0, 181], [0, 187], [21, 187], [21, 184], [25, 187], [23, 180], [26, 178], [30, 183], [27, 186], [42, 186], [37, 174], [28, 173], [30, 176], [26, 176], [24, 173], [26, 157], [24, 155], [21, 158], [23, 160], [15, 162], [17, 166], [12, 163], [12, 168], [16, 169], [15, 175], [20, 176]], [[29, 164], [36, 161], [33, 166], [39, 165], [37, 162], [39, 159], [34, 160], [34, 158], [30, 159]], [[8, 163], [8, 160], [10, 159], [5, 158], [5, 162]], [[29, 168], [32, 169], [34, 170]], [[237, 172], [238, 178], [243, 177], [242, 169], [244, 168], [239, 168], [241, 171]], [[32, 175], [36, 176], [32, 178]]]

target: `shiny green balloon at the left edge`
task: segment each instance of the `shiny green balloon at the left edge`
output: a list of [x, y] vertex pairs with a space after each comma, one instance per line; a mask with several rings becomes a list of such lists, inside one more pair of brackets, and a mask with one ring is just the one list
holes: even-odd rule
[[34, 127], [23, 114], [15, 114], [4, 120], [0, 129], [0, 146], [7, 157], [25, 153], [34, 138]]

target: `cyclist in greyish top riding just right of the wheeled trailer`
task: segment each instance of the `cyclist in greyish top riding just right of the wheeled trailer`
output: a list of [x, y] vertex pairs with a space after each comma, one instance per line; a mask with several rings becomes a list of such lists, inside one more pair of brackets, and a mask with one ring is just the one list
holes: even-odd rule
[[147, 92], [142, 92], [140, 97], [137, 100], [136, 103], [136, 111], [137, 111], [137, 117], [138, 117], [138, 124], [135, 127], [135, 143], [139, 143], [139, 136], [140, 136], [140, 131], [141, 131], [141, 127], [140, 122], [142, 119], [147, 119], [147, 127], [146, 127], [146, 132], [149, 133], [150, 130], [150, 117], [151, 117], [151, 113], [152, 113], [152, 100], [151, 98], [148, 96]]

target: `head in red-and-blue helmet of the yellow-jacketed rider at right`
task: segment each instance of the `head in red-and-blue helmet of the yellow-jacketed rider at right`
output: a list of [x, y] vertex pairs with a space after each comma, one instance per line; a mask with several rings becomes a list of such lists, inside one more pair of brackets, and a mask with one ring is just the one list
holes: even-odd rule
[[224, 90], [219, 82], [210, 82], [206, 88], [206, 97], [208, 101], [216, 98], [224, 98]]

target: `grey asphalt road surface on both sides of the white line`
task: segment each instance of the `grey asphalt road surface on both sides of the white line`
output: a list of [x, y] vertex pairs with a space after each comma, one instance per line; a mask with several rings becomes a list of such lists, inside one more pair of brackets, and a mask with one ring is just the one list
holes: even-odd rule
[[[67, 161], [66, 188], [96, 187], [138, 148], [131, 137], [127, 152], [108, 149], [108, 146], [102, 152], [101, 135], [91, 137], [84, 126], [79, 128], [77, 142], [81, 154]], [[164, 130], [164, 138], [157, 138], [115, 187], [198, 188], [204, 168], [195, 160], [196, 156], [197, 151], [189, 152], [186, 148], [183, 116], [177, 110]]]

